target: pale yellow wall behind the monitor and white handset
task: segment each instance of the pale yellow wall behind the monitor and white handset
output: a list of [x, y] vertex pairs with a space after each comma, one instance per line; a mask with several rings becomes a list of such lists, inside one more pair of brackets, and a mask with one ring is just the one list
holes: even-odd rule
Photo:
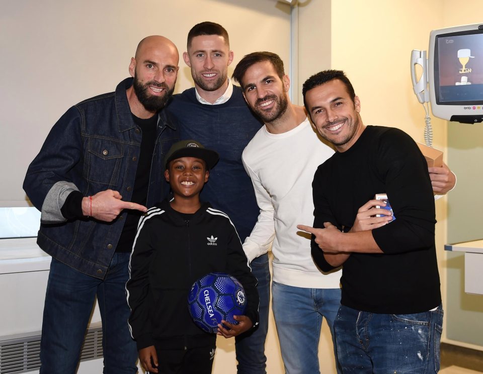
[[[483, 22], [479, 12], [481, 2], [347, 0], [331, 3], [331, 67], [345, 70], [351, 79], [361, 100], [363, 122], [398, 127], [416, 141], [424, 142], [425, 113], [412, 89], [411, 50], [428, 50], [433, 29]], [[448, 122], [431, 117], [433, 146], [445, 152], [445, 161], [451, 167], [447, 152]], [[447, 242], [447, 209], [447, 198], [436, 202], [436, 245], [443, 307], [459, 300], [458, 295], [447, 293], [448, 261], [443, 250]], [[443, 331], [443, 341], [448, 341], [446, 333], [447, 329]]]

